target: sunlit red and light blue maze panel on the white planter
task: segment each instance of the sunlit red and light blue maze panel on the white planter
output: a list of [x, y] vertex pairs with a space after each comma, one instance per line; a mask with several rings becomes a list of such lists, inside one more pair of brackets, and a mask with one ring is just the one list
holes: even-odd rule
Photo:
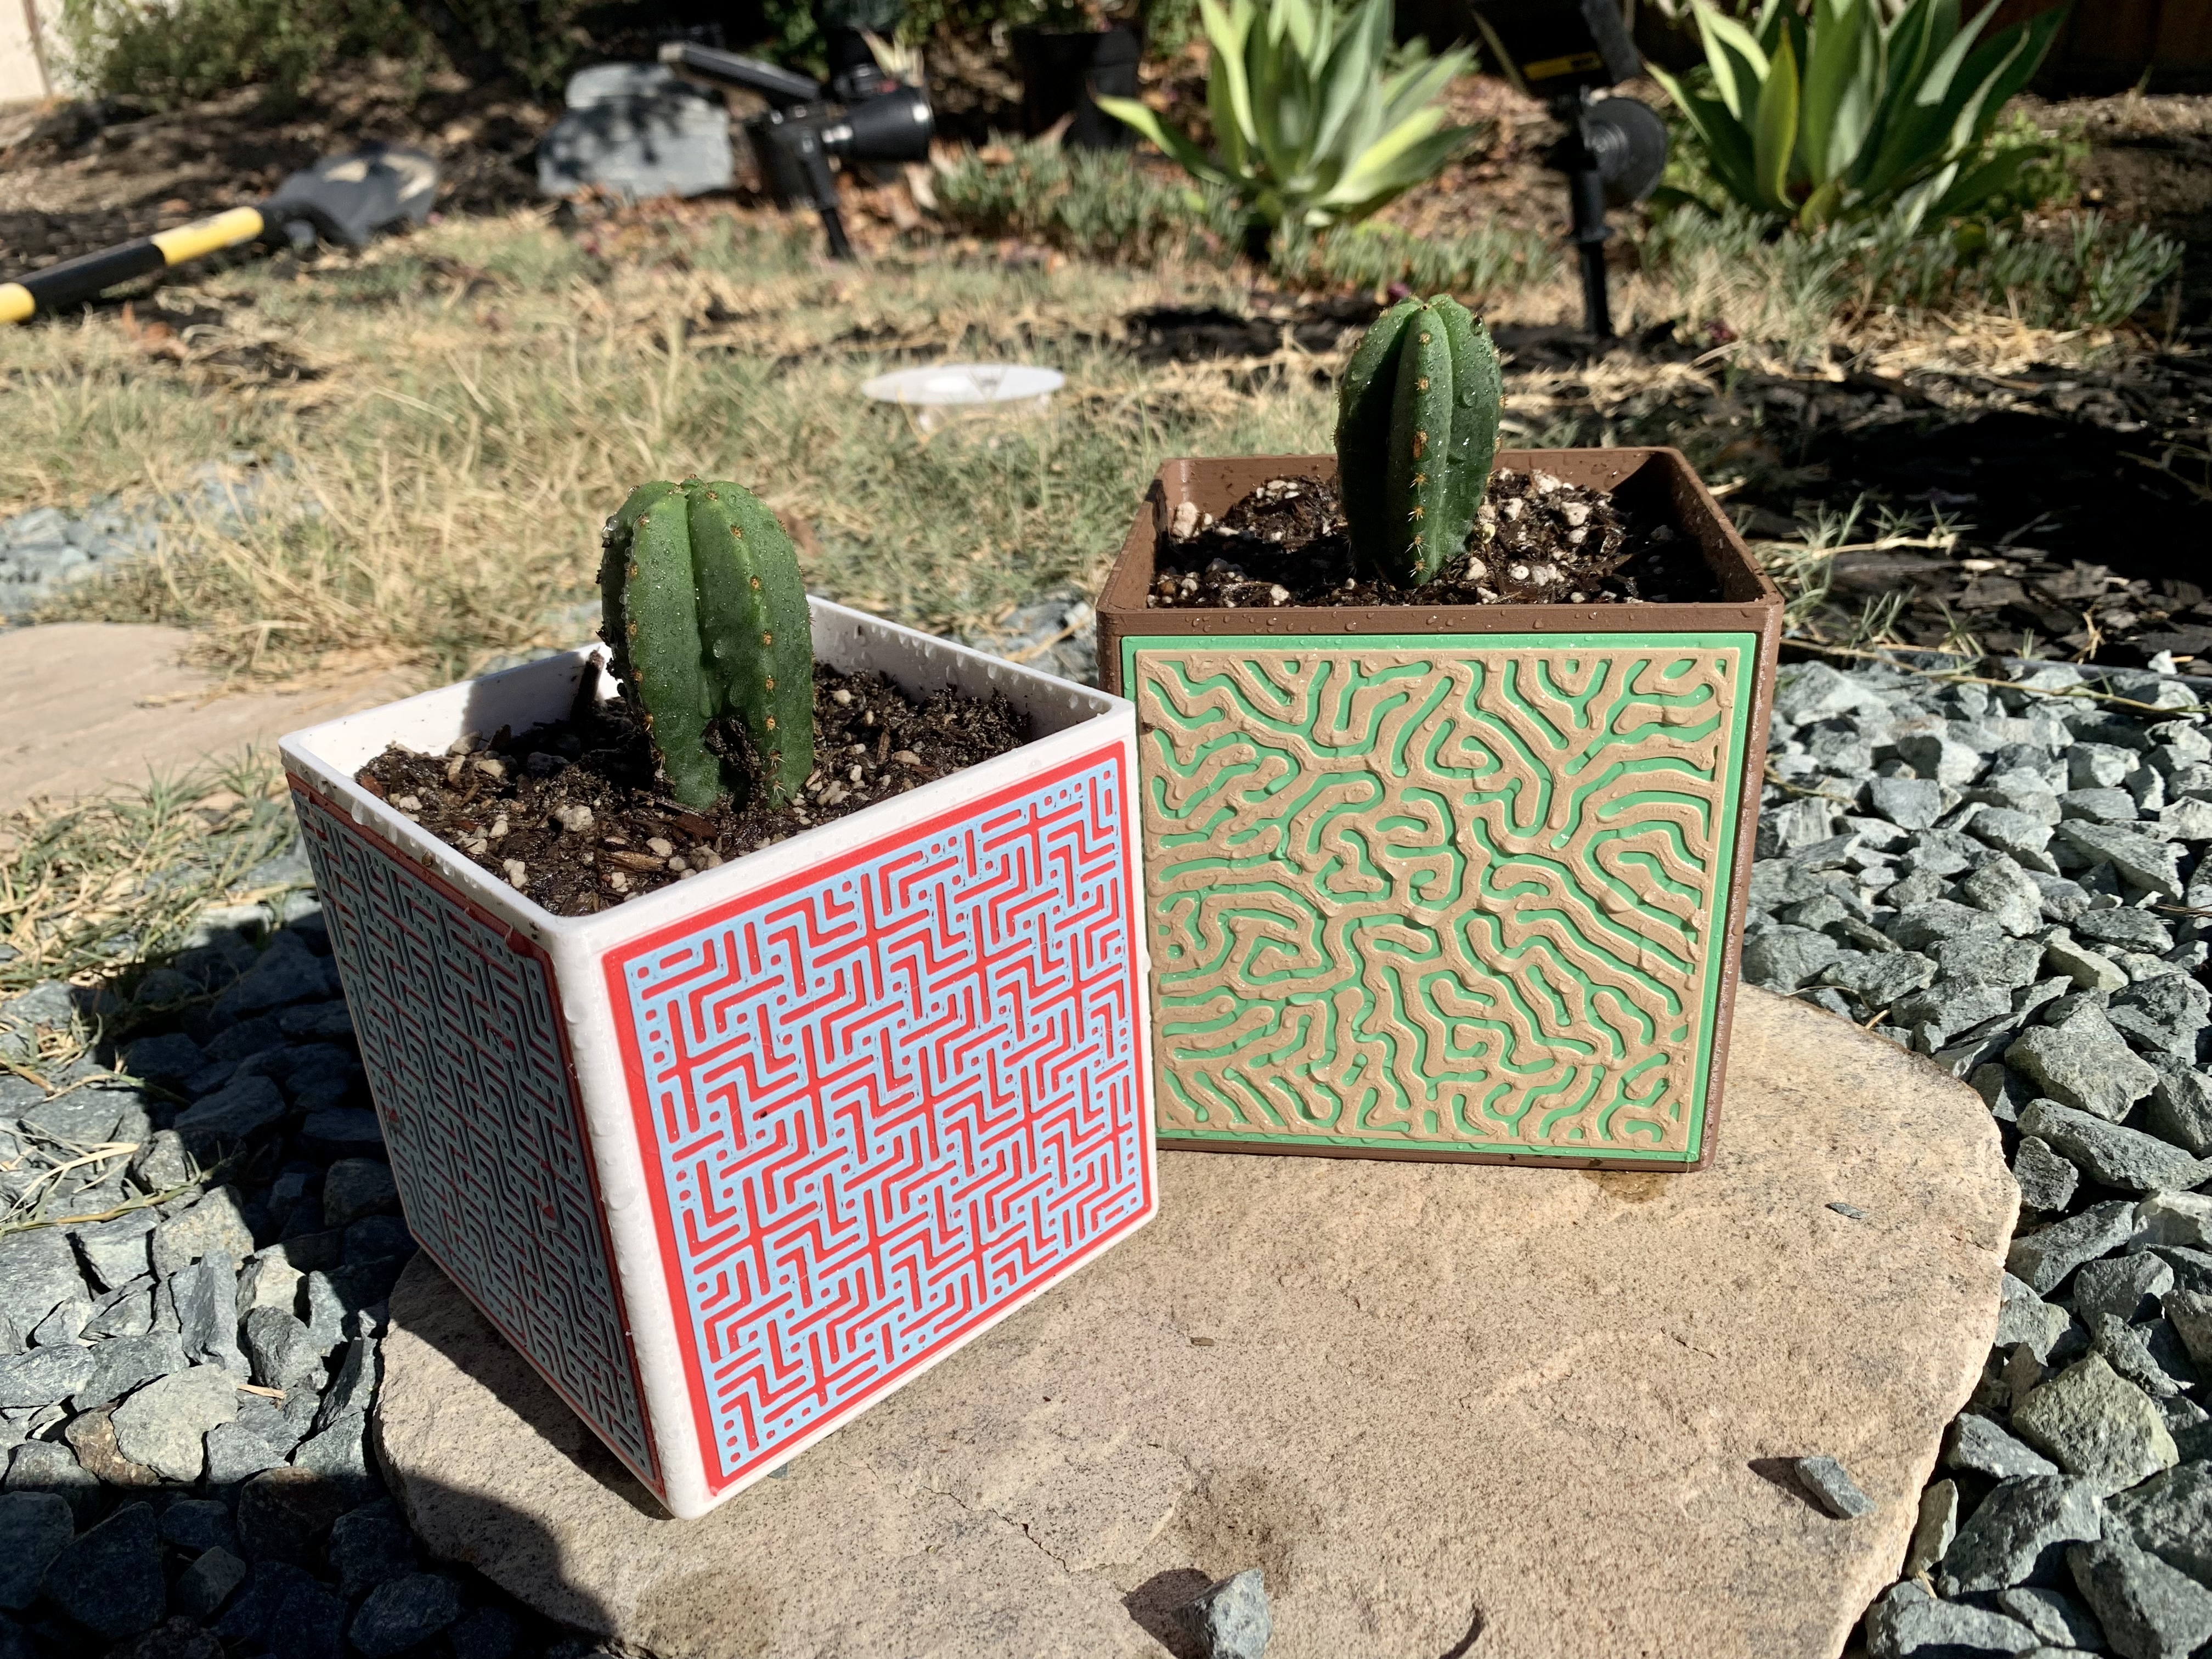
[[608, 958], [710, 1486], [1150, 1214], [1124, 790], [1117, 748]]

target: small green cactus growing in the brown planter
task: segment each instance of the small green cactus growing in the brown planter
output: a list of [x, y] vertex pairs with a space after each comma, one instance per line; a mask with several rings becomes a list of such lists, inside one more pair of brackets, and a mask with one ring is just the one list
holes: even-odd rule
[[1336, 392], [1336, 487], [1352, 553], [1400, 588], [1467, 546], [1498, 453], [1491, 332], [1449, 294], [1402, 299], [1352, 349]]

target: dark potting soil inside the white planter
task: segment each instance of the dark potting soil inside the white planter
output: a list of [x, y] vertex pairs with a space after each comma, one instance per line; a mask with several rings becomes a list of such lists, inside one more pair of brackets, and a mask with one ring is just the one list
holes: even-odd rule
[[677, 805], [639, 710], [619, 697], [449, 754], [394, 743], [356, 781], [555, 916], [591, 916], [1026, 741], [1029, 721], [1000, 695], [916, 701], [883, 675], [816, 664], [814, 774], [787, 807]]

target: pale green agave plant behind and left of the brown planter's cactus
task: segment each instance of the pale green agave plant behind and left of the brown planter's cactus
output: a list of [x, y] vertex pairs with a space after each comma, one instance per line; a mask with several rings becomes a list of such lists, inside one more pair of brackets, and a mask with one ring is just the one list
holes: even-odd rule
[[1436, 97], [1473, 62], [1458, 49], [1396, 73], [1391, 0], [1338, 18], [1332, 0], [1199, 0], [1212, 71], [1208, 155], [1128, 97], [1099, 108], [1135, 126], [1194, 179], [1230, 190], [1259, 230], [1323, 230], [1411, 190], [1475, 128], [1444, 126]]

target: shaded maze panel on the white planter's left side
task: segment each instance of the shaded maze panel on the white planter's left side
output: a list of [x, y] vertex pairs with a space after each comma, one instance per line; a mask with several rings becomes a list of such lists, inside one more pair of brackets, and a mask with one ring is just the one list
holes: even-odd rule
[[551, 964], [292, 799], [407, 1228], [659, 1491]]

